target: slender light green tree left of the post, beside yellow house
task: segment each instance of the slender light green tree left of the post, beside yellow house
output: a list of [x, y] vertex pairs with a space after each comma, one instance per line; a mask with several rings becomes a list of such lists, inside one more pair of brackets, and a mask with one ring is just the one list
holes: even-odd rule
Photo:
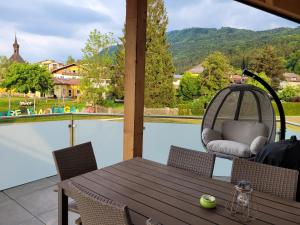
[[82, 96], [93, 105], [101, 104], [107, 92], [103, 81], [111, 77], [113, 61], [109, 47], [114, 43], [111, 33], [103, 34], [94, 29], [90, 32], [85, 47], [82, 49]]

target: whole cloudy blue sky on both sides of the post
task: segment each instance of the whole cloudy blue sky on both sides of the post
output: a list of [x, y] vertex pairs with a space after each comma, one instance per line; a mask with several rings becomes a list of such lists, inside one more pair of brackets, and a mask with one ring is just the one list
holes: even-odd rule
[[[14, 34], [29, 62], [82, 57], [89, 32], [122, 35], [126, 0], [0, 1], [0, 55], [10, 57]], [[234, 27], [267, 30], [299, 24], [233, 0], [165, 0], [168, 30]]]

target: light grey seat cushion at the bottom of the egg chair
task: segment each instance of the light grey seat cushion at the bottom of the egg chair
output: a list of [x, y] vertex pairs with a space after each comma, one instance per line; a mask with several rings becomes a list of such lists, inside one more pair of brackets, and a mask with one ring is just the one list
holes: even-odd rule
[[243, 143], [229, 140], [215, 140], [207, 144], [209, 152], [218, 152], [225, 155], [249, 158], [251, 156], [250, 147]]

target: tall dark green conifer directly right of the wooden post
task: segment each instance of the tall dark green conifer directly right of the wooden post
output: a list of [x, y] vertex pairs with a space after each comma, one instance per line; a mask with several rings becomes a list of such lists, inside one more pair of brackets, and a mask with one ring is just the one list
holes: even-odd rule
[[167, 41], [168, 17], [163, 0], [148, 1], [145, 106], [166, 107], [175, 102], [174, 65]]

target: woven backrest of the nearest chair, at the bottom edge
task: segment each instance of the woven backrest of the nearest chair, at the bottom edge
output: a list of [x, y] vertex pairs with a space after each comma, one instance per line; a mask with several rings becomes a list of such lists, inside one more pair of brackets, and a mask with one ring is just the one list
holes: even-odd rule
[[84, 225], [130, 225], [128, 208], [76, 183], [69, 183]]

